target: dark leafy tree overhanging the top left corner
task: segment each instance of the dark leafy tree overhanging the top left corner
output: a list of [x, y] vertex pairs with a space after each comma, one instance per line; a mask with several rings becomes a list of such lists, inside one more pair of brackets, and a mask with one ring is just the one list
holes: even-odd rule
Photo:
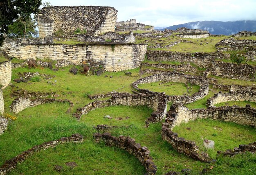
[[[0, 0], [0, 46], [4, 42], [3, 34], [8, 34], [8, 25], [16, 20], [24, 25], [31, 18], [31, 13], [38, 13], [41, 0]], [[25, 32], [26, 33], [26, 32]]]

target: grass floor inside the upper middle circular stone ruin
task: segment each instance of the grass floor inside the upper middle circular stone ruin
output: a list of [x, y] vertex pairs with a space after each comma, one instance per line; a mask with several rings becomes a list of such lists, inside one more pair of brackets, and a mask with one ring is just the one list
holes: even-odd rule
[[[189, 84], [189, 87], [191, 85]], [[167, 95], [183, 95], [188, 94], [192, 95], [195, 92], [198, 92], [200, 86], [199, 85], [192, 85], [192, 91], [187, 92], [186, 85], [184, 83], [178, 82], [155, 82], [155, 83], [145, 83], [138, 85], [140, 89], [148, 89], [154, 92], [165, 92]]]

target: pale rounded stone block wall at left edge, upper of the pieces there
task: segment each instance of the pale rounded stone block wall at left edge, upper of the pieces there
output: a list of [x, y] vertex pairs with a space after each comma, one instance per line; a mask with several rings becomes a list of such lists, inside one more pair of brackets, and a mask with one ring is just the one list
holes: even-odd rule
[[10, 82], [11, 82], [11, 61], [5, 61], [0, 63], [0, 85], [2, 85], [2, 88], [6, 88]]

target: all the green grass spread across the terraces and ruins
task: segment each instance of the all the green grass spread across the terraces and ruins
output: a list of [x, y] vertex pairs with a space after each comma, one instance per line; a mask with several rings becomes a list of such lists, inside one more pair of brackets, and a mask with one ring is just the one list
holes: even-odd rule
[[[193, 43], [181, 43], [175, 49], [181, 49], [186, 52], [195, 52], [196, 49], [207, 52], [206, 49], [214, 50], [212, 47], [226, 37], [209, 37], [204, 39], [190, 39]], [[173, 42], [177, 37], [168, 37], [166, 39], [150, 39], [149, 44]], [[145, 40], [145, 39], [144, 39]], [[189, 39], [188, 39], [189, 40]], [[142, 41], [142, 40], [141, 40]], [[137, 42], [141, 42], [137, 41]], [[76, 41], [69, 41], [75, 44]], [[74, 43], [72, 43], [74, 42]], [[208, 44], [207, 44], [208, 42]], [[200, 44], [202, 43], [202, 45]], [[182, 45], [184, 44], [184, 45]], [[209, 47], [210, 46], [210, 47]], [[175, 47], [175, 46], [174, 46]], [[180, 47], [180, 48], [179, 48]], [[205, 47], [205, 48], [204, 48]], [[209, 47], [209, 48], [207, 48]], [[18, 62], [19, 60], [14, 60]], [[157, 63], [150, 62], [148, 63]], [[162, 62], [167, 64], [179, 65], [179, 62]], [[76, 66], [80, 70], [80, 66]], [[184, 168], [192, 169], [191, 175], [198, 175], [203, 168], [214, 166], [214, 168], [206, 174], [244, 174], [254, 175], [256, 155], [243, 154], [236, 155], [234, 158], [217, 158], [215, 164], [207, 164], [193, 160], [184, 154], [177, 153], [171, 147], [171, 144], [163, 141], [161, 138], [162, 122], [150, 124], [145, 127], [145, 120], [153, 112], [145, 106], [111, 106], [90, 111], [88, 114], [82, 115], [81, 120], [77, 121], [72, 117], [72, 113], [77, 108], [83, 107], [92, 102], [88, 95], [105, 94], [111, 91], [132, 93], [132, 82], [139, 79], [139, 68], [127, 70], [132, 72], [131, 76], [122, 72], [104, 72], [100, 76], [92, 75], [85, 77], [84, 74], [73, 75], [69, 72], [72, 66], [60, 68], [54, 72], [48, 68], [37, 67], [35, 69], [16, 68], [12, 70], [13, 86], [8, 86], [3, 90], [5, 115], [10, 114], [17, 119], [11, 122], [7, 131], [0, 135], [0, 164], [6, 160], [13, 158], [22, 151], [25, 151], [34, 145], [43, 142], [56, 140], [61, 137], [71, 136], [72, 133], [81, 133], [85, 139], [83, 143], [67, 143], [58, 145], [56, 148], [40, 151], [30, 157], [10, 174], [93, 174], [93, 175], [141, 175], [146, 173], [144, 166], [126, 151], [116, 147], [106, 147], [103, 143], [96, 144], [92, 138], [93, 133], [97, 132], [93, 127], [99, 124], [108, 124], [110, 126], [118, 126], [110, 130], [114, 136], [130, 136], [146, 146], [150, 150], [155, 164], [157, 165], [157, 175], [162, 175], [168, 171], [180, 172]], [[202, 68], [198, 68], [203, 71]], [[18, 72], [40, 72], [41, 74], [50, 74], [52, 79], [44, 79], [39, 77], [34, 81], [27, 83], [16, 83], [13, 80], [19, 78]], [[107, 75], [108, 77], [104, 77]], [[109, 76], [113, 76], [112, 79]], [[148, 76], [144, 74], [143, 77]], [[217, 79], [223, 84], [240, 84], [252, 85], [254, 82], [239, 81], [232, 79], [223, 79], [220, 77], [209, 76]], [[50, 81], [50, 82], [49, 82]], [[160, 85], [159, 85], [160, 83]], [[168, 95], [192, 95], [198, 92], [199, 86], [192, 85], [192, 91], [187, 92], [184, 83], [173, 82], [156, 82], [139, 85], [139, 88], [149, 89], [155, 92], [166, 92]], [[71, 112], [66, 113], [70, 108], [68, 103], [52, 103], [38, 105], [23, 110], [18, 114], [9, 112], [9, 106], [16, 96], [12, 92], [19, 89], [35, 92], [56, 92], [58, 99], [69, 99], [74, 103]], [[210, 85], [209, 94], [195, 103], [187, 104], [189, 109], [206, 108], [206, 101], [220, 90], [214, 89]], [[222, 91], [225, 92], [225, 91]], [[245, 106], [248, 102], [225, 102], [217, 104], [221, 105], [240, 105]], [[252, 107], [256, 107], [255, 103], [249, 103]], [[168, 109], [171, 103], [168, 103]], [[112, 119], [104, 118], [110, 115]], [[122, 118], [122, 119], [120, 119]], [[187, 127], [191, 128], [186, 129]], [[256, 140], [256, 129], [237, 125], [234, 123], [224, 123], [214, 120], [196, 120], [184, 123], [174, 128], [180, 137], [194, 140], [202, 147], [202, 139], [207, 138], [216, 142], [215, 150], [207, 151], [212, 158], [216, 158], [216, 151], [225, 149], [234, 149], [239, 144], [248, 144]], [[204, 150], [206, 151], [206, 150]], [[66, 162], [76, 162], [75, 168], [65, 165]], [[63, 166], [61, 172], [54, 170], [55, 165]]]

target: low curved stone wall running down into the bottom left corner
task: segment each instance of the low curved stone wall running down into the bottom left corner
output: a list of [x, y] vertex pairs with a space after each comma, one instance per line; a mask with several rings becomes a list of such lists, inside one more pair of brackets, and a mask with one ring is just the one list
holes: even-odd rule
[[34, 153], [38, 151], [42, 151], [48, 148], [54, 148], [58, 144], [63, 144], [67, 142], [75, 142], [75, 143], [83, 142], [83, 136], [79, 133], [76, 133], [76, 134], [72, 134], [71, 137], [63, 137], [58, 140], [44, 142], [42, 144], [36, 145], [31, 149], [28, 149], [27, 151], [22, 152], [16, 157], [4, 162], [4, 164], [0, 166], [0, 175], [6, 175], [7, 173], [15, 169], [17, 164], [24, 162], [27, 158], [29, 158], [30, 156], [32, 156]]

